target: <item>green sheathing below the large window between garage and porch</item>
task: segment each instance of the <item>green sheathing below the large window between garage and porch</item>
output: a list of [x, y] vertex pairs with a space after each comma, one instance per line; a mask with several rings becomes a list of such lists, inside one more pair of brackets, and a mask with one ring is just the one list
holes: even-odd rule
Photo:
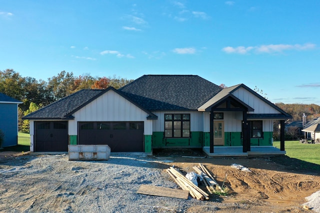
[[191, 132], [191, 138], [163, 138], [163, 132], [153, 132], [152, 148], [202, 147], [202, 140], [202, 132]]

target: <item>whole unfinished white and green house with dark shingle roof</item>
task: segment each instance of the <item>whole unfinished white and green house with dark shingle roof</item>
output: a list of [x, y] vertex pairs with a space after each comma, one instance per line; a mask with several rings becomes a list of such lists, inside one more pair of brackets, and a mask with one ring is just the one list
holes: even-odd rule
[[67, 151], [70, 145], [107, 144], [111, 152], [155, 148], [272, 147], [273, 120], [286, 112], [243, 84], [222, 89], [197, 75], [143, 75], [116, 90], [84, 89], [23, 119], [30, 151]]

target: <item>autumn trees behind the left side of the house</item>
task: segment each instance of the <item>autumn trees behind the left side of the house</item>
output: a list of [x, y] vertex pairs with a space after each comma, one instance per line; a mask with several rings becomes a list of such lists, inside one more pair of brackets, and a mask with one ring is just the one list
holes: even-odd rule
[[93, 77], [86, 73], [74, 76], [72, 72], [61, 71], [45, 80], [23, 77], [13, 69], [0, 70], [0, 92], [23, 102], [18, 105], [18, 131], [28, 132], [28, 121], [21, 117], [42, 106], [48, 105], [81, 89], [118, 89], [133, 80], [112, 77]]

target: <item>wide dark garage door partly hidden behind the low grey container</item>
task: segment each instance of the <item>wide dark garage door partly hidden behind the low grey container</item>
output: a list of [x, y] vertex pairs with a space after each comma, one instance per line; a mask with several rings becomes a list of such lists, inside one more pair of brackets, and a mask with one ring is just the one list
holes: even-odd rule
[[107, 144], [111, 152], [143, 152], [143, 122], [79, 122], [80, 145]]

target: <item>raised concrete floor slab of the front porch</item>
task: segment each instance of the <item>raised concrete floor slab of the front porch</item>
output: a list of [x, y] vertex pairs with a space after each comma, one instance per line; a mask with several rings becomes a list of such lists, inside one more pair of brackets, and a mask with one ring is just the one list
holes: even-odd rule
[[273, 146], [251, 146], [251, 150], [243, 152], [243, 147], [214, 146], [214, 153], [210, 153], [210, 147], [203, 147], [202, 151], [209, 157], [254, 157], [284, 155], [285, 151]]

